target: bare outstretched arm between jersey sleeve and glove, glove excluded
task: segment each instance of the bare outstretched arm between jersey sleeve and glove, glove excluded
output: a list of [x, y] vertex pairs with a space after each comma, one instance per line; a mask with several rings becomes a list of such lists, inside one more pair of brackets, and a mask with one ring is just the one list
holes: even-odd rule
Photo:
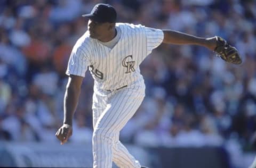
[[199, 45], [204, 46], [211, 51], [214, 51], [216, 47], [216, 38], [201, 38], [192, 35], [188, 35], [187, 33], [174, 31], [174, 30], [163, 30], [164, 32], [164, 40], [163, 43], [168, 44], [177, 44], [177, 45]]

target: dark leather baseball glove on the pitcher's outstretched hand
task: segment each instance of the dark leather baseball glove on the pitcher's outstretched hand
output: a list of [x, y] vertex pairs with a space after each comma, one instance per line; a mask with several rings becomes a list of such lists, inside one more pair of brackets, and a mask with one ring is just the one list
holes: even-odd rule
[[219, 36], [215, 36], [215, 38], [217, 40], [217, 46], [215, 47], [214, 52], [217, 54], [217, 56], [221, 57], [222, 60], [229, 63], [242, 63], [242, 59], [235, 47], [230, 46], [225, 39]]

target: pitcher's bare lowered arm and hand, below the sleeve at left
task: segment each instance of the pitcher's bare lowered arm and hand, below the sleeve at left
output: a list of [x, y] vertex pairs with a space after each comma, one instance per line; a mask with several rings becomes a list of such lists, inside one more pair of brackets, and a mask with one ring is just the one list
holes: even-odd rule
[[63, 125], [56, 132], [57, 138], [61, 144], [65, 144], [72, 135], [73, 115], [76, 111], [78, 99], [81, 91], [83, 77], [70, 75], [64, 96], [64, 120]]

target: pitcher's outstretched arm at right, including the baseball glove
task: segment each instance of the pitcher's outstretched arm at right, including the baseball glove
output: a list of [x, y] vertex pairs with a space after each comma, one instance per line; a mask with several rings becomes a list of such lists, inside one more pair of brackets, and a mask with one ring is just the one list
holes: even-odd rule
[[222, 39], [219, 36], [214, 36], [211, 38], [201, 38], [174, 30], [163, 30], [163, 33], [163, 43], [204, 46], [210, 49], [211, 51], [214, 51], [217, 54], [217, 56], [220, 56], [226, 62], [233, 64], [242, 63], [242, 58], [238, 54], [237, 49], [229, 45], [225, 39]]

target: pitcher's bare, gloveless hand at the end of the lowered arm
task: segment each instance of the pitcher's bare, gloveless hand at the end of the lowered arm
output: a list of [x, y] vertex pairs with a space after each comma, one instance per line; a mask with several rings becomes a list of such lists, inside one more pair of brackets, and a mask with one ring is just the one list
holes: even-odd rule
[[59, 130], [55, 133], [55, 136], [60, 140], [60, 144], [63, 145], [68, 141], [68, 138], [72, 135], [73, 129], [69, 124], [63, 124]]

